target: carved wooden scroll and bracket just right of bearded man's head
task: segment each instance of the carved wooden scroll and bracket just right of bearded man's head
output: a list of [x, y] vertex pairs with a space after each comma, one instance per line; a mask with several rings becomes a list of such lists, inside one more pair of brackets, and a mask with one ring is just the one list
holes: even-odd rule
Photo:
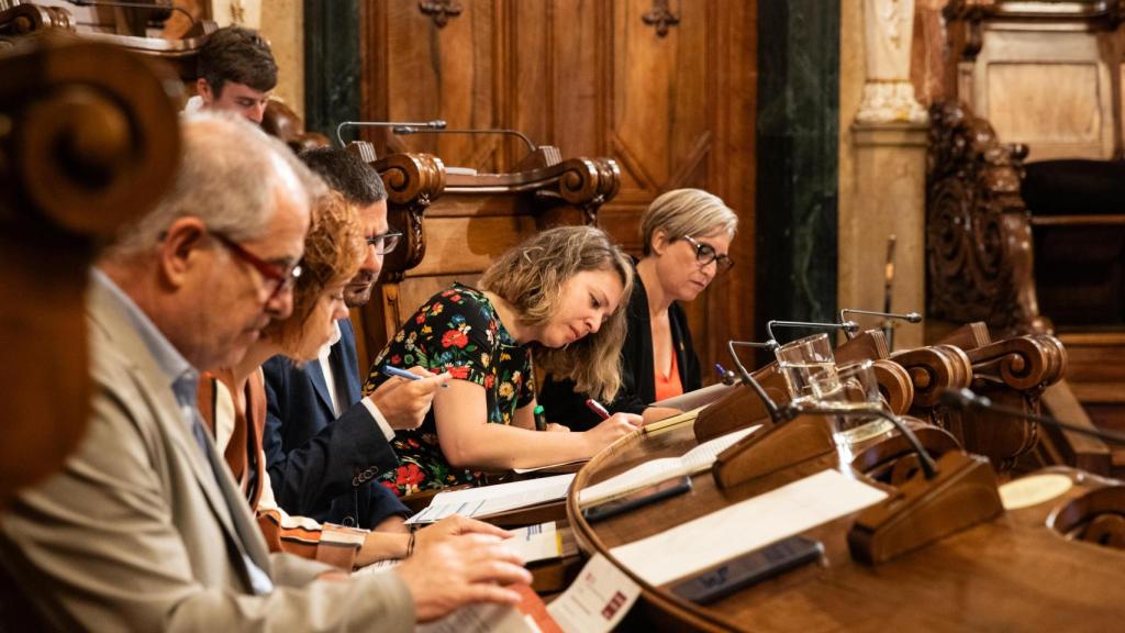
[[372, 164], [387, 188], [392, 230], [403, 232], [400, 246], [382, 264], [384, 279], [397, 282], [425, 256], [422, 217], [446, 189], [446, 166], [432, 154], [390, 154]]

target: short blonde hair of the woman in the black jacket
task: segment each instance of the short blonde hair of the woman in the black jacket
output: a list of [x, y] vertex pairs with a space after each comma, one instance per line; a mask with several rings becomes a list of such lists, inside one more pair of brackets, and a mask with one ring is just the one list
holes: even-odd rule
[[722, 198], [703, 189], [673, 189], [660, 194], [640, 217], [645, 256], [651, 255], [652, 235], [663, 229], [669, 240], [701, 238], [720, 230], [734, 235], [738, 215]]

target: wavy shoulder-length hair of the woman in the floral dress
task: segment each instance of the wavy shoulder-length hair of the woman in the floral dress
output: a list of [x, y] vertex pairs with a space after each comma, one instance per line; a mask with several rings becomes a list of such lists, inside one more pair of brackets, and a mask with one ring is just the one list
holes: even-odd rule
[[510, 249], [480, 278], [482, 288], [508, 302], [522, 324], [537, 327], [558, 312], [562, 284], [587, 270], [612, 270], [624, 291], [618, 310], [595, 333], [565, 347], [539, 347], [536, 362], [556, 376], [577, 383], [577, 391], [612, 400], [621, 386], [621, 346], [626, 310], [632, 294], [629, 257], [593, 226], [559, 226]]

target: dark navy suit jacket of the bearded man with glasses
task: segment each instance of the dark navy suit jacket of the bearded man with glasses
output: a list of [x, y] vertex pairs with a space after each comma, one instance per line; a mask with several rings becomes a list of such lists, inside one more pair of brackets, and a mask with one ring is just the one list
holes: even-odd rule
[[330, 362], [351, 407], [334, 419], [320, 363], [297, 367], [281, 356], [270, 358], [262, 365], [269, 400], [262, 444], [278, 505], [292, 515], [370, 528], [387, 517], [410, 512], [374, 482], [396, 469], [398, 458], [360, 402], [350, 321], [340, 321], [340, 333]]

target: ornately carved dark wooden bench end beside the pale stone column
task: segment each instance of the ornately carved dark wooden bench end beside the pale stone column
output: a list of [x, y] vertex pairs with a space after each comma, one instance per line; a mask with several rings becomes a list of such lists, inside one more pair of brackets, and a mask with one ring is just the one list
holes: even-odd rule
[[1001, 144], [964, 105], [930, 108], [926, 255], [932, 316], [1002, 336], [1046, 331], [1019, 196], [1026, 148]]

